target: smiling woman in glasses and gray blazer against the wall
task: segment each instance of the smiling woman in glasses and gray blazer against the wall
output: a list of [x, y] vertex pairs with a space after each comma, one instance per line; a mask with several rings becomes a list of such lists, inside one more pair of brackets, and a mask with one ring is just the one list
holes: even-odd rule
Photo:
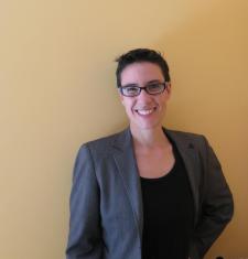
[[233, 216], [220, 164], [203, 136], [164, 129], [169, 67], [153, 50], [118, 60], [125, 131], [82, 145], [67, 259], [200, 259]]

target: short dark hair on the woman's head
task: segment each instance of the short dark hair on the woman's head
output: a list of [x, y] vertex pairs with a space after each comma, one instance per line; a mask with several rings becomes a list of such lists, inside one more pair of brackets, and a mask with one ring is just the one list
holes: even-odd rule
[[165, 82], [171, 80], [168, 63], [160, 52], [150, 48], [134, 48], [117, 57], [116, 62], [118, 63], [116, 69], [117, 87], [121, 86], [120, 77], [121, 72], [125, 69], [125, 67], [139, 62], [150, 62], [159, 65], [163, 73]]

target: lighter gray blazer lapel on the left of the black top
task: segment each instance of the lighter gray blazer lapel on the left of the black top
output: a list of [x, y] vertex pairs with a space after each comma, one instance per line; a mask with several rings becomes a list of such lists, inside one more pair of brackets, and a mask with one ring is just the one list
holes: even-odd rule
[[142, 194], [130, 129], [128, 128], [118, 134], [112, 145], [115, 149], [114, 159], [129, 197], [141, 238], [143, 227]]

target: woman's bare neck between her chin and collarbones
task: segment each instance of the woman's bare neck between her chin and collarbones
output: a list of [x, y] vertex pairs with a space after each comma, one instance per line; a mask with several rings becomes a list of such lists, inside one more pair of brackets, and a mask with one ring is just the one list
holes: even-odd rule
[[137, 148], [158, 148], [169, 144], [169, 140], [163, 132], [162, 126], [152, 129], [137, 129], [131, 127], [131, 134]]

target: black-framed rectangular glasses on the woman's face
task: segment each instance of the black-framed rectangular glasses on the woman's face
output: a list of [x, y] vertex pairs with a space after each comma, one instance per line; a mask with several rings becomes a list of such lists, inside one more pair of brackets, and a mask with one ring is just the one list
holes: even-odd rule
[[138, 96], [141, 93], [141, 90], [145, 90], [149, 95], [160, 95], [165, 90], [168, 83], [169, 82], [150, 83], [143, 87], [139, 87], [136, 84], [130, 84], [126, 86], [120, 86], [119, 90], [121, 95], [127, 96], [127, 97]]

